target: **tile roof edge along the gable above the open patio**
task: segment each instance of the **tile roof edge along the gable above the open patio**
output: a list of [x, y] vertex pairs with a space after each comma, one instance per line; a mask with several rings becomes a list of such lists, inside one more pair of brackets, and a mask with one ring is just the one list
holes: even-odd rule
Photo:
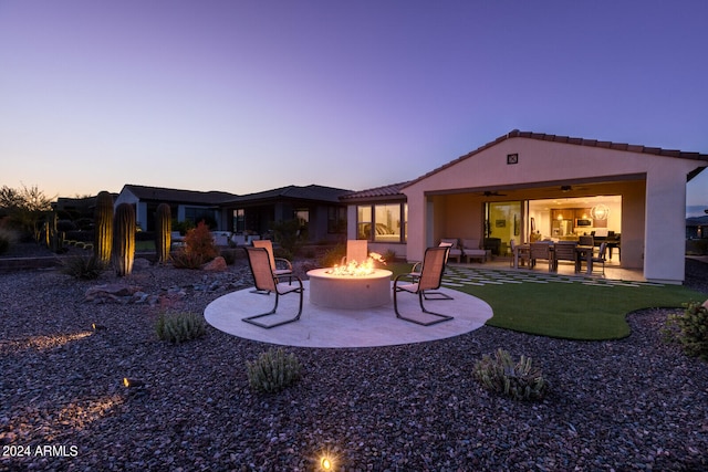
[[[700, 154], [700, 153], [686, 153], [686, 151], [681, 151], [681, 150], [676, 150], [676, 149], [662, 149], [660, 147], [646, 147], [646, 146], [642, 146], [642, 145], [632, 145], [632, 144], [626, 144], [626, 143], [612, 143], [612, 141], [602, 141], [602, 140], [597, 140], [597, 139], [585, 139], [585, 138], [575, 138], [575, 137], [570, 137], [570, 136], [558, 136], [558, 135], [546, 135], [544, 133], [531, 133], [531, 132], [520, 132], [519, 129], [513, 129], [509, 133], [507, 133], [503, 136], [498, 137], [497, 139], [494, 139], [493, 141], [487, 143], [486, 145], [472, 150], [471, 153], [468, 153], [464, 156], [458, 157], [455, 160], [451, 160], [436, 169], [433, 169], [431, 171], [418, 177], [417, 179], [410, 180], [409, 182], [407, 182], [406, 185], [404, 185], [402, 188], [405, 188], [409, 185], [413, 185], [417, 181], [420, 181], [423, 179], [425, 179], [426, 177], [429, 177], [434, 174], [439, 172], [442, 169], [446, 169], [448, 167], [451, 167], [454, 165], [456, 165], [457, 162], [459, 162], [460, 160], [465, 160], [468, 157], [471, 157], [476, 154], [481, 153], [485, 149], [488, 149], [492, 146], [498, 145], [501, 141], [504, 141], [507, 139], [511, 139], [511, 138], [529, 138], [529, 139], [538, 139], [538, 140], [544, 140], [544, 141], [553, 141], [553, 143], [564, 143], [564, 144], [572, 144], [572, 145], [577, 145], [577, 146], [590, 146], [590, 147], [601, 147], [601, 148], [605, 148], [605, 149], [613, 149], [613, 150], [625, 150], [625, 151], [629, 151], [629, 153], [643, 153], [643, 154], [652, 154], [652, 155], [656, 155], [656, 156], [667, 156], [667, 157], [676, 157], [676, 158], [680, 158], [680, 159], [696, 159], [696, 160], [706, 160], [708, 161], [708, 155], [707, 154]], [[698, 170], [700, 171], [700, 169]]]

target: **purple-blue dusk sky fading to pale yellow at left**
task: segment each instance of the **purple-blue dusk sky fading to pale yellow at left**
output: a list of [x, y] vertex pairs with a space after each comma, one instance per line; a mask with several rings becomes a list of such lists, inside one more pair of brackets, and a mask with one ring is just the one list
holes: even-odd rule
[[512, 129], [708, 154], [706, 24], [705, 0], [0, 0], [0, 186], [362, 190]]

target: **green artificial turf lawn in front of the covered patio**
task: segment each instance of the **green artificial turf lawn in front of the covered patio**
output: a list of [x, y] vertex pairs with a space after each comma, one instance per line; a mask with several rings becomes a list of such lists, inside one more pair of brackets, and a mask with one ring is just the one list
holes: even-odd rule
[[[387, 268], [405, 273], [405, 268]], [[452, 270], [454, 271], [454, 270]], [[500, 276], [513, 274], [499, 271]], [[602, 281], [601, 281], [602, 282]], [[568, 339], [617, 339], [629, 335], [628, 313], [643, 308], [677, 308], [708, 296], [680, 285], [618, 286], [573, 283], [503, 283], [464, 285], [460, 292], [487, 302], [493, 316], [487, 322], [517, 332]], [[440, 302], [444, 303], [444, 302]]]

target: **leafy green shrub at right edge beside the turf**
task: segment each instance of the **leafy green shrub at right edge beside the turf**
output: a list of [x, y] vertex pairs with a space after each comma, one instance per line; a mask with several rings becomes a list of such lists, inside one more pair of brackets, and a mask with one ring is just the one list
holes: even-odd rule
[[684, 304], [683, 314], [666, 319], [664, 336], [678, 343], [688, 356], [708, 360], [708, 308], [698, 302]]

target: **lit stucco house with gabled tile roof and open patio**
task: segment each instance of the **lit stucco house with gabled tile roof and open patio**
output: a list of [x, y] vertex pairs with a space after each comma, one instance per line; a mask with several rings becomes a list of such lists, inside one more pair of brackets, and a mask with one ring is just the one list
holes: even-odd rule
[[[347, 237], [410, 261], [442, 238], [507, 253], [512, 239], [612, 237], [623, 268], [680, 283], [686, 182], [706, 166], [705, 154], [512, 130], [417, 179], [347, 195]], [[376, 211], [395, 206], [398, 221]], [[362, 231], [379, 218], [388, 227], [382, 232], [400, 228], [396, 241]]]

